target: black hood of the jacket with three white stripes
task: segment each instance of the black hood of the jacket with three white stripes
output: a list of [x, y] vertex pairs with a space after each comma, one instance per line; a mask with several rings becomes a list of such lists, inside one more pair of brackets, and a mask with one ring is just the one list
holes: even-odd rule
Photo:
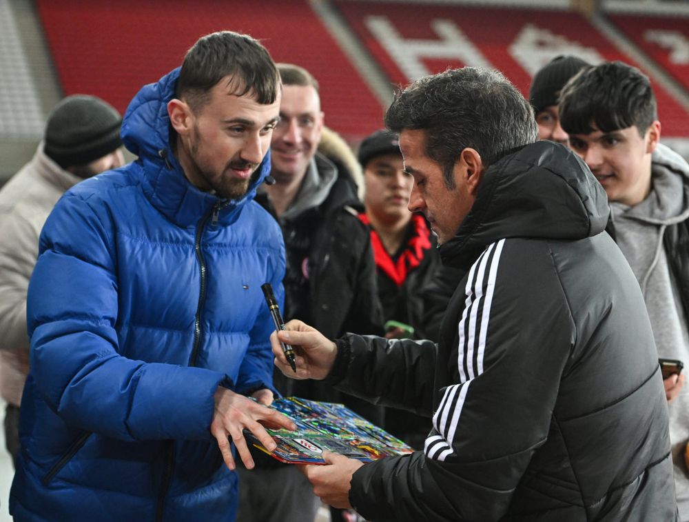
[[603, 232], [609, 214], [605, 190], [584, 161], [564, 145], [537, 141], [486, 170], [469, 214], [440, 255], [468, 268], [499, 239], [583, 239]]

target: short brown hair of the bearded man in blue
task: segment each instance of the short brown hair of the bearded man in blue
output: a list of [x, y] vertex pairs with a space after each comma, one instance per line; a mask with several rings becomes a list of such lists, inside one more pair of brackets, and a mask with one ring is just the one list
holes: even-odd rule
[[232, 31], [207, 34], [194, 43], [182, 62], [175, 96], [197, 111], [208, 102], [209, 91], [228, 76], [237, 96], [253, 92], [262, 105], [278, 98], [280, 75], [266, 48]]

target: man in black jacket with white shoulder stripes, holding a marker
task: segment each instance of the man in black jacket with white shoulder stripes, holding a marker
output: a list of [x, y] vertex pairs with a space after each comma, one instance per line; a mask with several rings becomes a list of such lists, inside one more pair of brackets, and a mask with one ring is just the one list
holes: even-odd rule
[[[424, 450], [326, 454], [314, 492], [374, 521], [674, 521], [668, 412], [648, 314], [603, 233], [606, 194], [502, 74], [426, 77], [386, 116], [444, 263], [464, 271], [440, 342], [298, 321], [299, 379], [433, 413]], [[289, 370], [273, 334], [280, 369]]]

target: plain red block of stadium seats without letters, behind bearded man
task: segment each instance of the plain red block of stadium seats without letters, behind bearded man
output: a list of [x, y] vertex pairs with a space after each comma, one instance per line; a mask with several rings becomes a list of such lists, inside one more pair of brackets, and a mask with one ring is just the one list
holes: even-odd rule
[[383, 108], [306, 0], [194, 2], [37, 0], [65, 94], [95, 94], [124, 111], [145, 83], [181, 64], [203, 34], [246, 32], [276, 61], [321, 84], [326, 124], [350, 141], [382, 126]]

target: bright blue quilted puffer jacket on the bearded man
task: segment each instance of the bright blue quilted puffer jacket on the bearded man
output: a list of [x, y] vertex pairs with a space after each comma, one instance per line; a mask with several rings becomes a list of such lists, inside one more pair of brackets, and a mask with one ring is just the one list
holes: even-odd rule
[[127, 110], [123, 139], [138, 161], [76, 185], [43, 228], [17, 520], [234, 520], [236, 474], [209, 434], [213, 394], [272, 386], [260, 285], [282, 300], [285, 248], [252, 201], [268, 156], [237, 201], [185, 179], [169, 152], [177, 76]]

